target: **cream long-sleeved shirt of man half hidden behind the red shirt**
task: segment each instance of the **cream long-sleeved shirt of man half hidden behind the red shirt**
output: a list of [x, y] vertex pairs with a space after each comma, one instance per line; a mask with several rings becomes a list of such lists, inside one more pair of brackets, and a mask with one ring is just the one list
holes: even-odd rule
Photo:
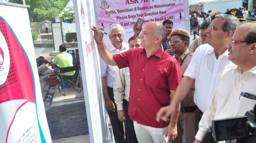
[[129, 101], [130, 94], [129, 67], [117, 69], [113, 92], [117, 110], [124, 110], [123, 101]]

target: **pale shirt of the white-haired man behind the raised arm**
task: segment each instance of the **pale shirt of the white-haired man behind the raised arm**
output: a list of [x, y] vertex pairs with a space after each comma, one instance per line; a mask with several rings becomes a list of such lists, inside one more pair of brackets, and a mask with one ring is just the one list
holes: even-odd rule
[[[112, 54], [120, 54], [127, 50], [129, 50], [129, 44], [122, 43], [122, 47], [120, 50], [116, 49], [111, 42], [109, 42], [106, 45], [106, 48], [110, 51]], [[101, 71], [101, 77], [107, 76], [107, 86], [110, 88], [113, 88], [114, 81], [116, 77], [116, 69], [117, 66], [113, 65], [107, 65], [100, 57], [100, 71]]]

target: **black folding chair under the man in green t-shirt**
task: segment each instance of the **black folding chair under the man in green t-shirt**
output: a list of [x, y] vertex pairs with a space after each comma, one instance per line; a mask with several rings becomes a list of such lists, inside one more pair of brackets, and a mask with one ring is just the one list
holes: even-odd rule
[[[70, 71], [76, 71], [73, 75], [71, 76], [65, 76], [65, 75], [62, 75], [63, 73], [66, 73], [66, 72], [70, 72]], [[76, 91], [76, 92], [81, 92], [81, 88], [80, 88], [80, 75], [79, 75], [79, 66], [70, 66], [70, 67], [64, 67], [64, 68], [60, 68], [60, 74], [58, 75], [58, 73], [56, 73], [56, 77], [57, 76], [60, 76], [60, 79], [58, 80], [58, 87], [59, 87], [59, 91], [61, 93], [61, 90], [60, 90], [60, 85], [63, 85], [63, 88], [64, 88], [64, 93], [66, 96], [66, 88], [70, 85], [70, 84], [73, 84], [73, 89]], [[78, 77], [78, 78], [77, 78]], [[57, 78], [58, 79], [58, 78]], [[71, 80], [70, 80], [71, 79]], [[67, 86], [65, 86], [64, 84], [65, 83], [68, 83]], [[60, 83], [60, 85], [59, 85]], [[77, 87], [77, 90], [75, 89], [75, 85]]]

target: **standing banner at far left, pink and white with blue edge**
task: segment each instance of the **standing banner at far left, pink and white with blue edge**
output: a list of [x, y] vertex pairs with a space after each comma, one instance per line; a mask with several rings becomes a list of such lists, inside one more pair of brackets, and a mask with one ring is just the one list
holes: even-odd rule
[[27, 7], [4, 2], [0, 2], [0, 142], [52, 142]]

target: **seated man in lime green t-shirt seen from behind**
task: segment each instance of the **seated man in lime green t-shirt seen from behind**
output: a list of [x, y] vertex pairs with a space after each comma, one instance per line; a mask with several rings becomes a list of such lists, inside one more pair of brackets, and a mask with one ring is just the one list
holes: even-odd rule
[[[53, 64], [52, 66], [54, 67], [54, 71], [56, 73], [60, 73], [59, 71], [59, 67], [63, 68], [63, 67], [69, 67], [69, 66], [73, 66], [73, 57], [71, 54], [66, 53], [66, 46], [64, 44], [60, 45], [60, 53], [55, 56], [54, 60], [53, 60]], [[57, 65], [57, 63], [59, 64], [59, 66]], [[75, 71], [71, 71], [71, 72], [66, 72], [66, 73], [62, 73], [62, 75], [64, 76], [71, 76], [75, 73]]]

